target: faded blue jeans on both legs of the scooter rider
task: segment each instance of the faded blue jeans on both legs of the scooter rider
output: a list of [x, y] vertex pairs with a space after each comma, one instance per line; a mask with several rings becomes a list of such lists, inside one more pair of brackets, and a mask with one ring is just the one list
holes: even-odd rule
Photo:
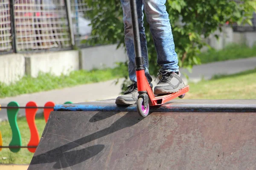
[[[128, 71], [132, 82], [137, 82], [135, 73], [135, 53], [133, 31], [131, 23], [130, 0], [120, 0], [123, 10], [124, 34], [127, 55], [129, 58]], [[157, 51], [157, 64], [160, 70], [179, 71], [177, 53], [173, 42], [172, 28], [169, 14], [166, 11], [166, 0], [137, 0], [137, 13], [139, 21], [141, 52], [144, 58], [145, 76], [151, 83], [152, 78], [148, 72], [148, 48], [145, 38], [145, 28], [143, 27], [143, 9], [150, 25], [151, 35]]]

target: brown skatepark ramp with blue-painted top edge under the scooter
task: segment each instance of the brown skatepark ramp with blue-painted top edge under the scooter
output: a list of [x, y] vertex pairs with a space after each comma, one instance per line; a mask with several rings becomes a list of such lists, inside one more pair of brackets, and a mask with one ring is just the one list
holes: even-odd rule
[[256, 100], [55, 105], [28, 170], [255, 170]]

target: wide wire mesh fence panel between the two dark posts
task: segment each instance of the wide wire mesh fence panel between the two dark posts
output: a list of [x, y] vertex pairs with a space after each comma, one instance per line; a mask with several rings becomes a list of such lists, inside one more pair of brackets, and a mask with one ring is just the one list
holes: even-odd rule
[[17, 51], [70, 46], [64, 0], [15, 0]]

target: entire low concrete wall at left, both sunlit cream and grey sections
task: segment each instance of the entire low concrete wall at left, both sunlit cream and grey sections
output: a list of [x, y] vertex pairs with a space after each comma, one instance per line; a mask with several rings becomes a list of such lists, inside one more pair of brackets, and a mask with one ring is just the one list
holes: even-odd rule
[[79, 69], [113, 68], [116, 62], [125, 62], [127, 59], [124, 48], [116, 50], [116, 45], [84, 48], [80, 52], [71, 50], [1, 55], [0, 82], [9, 85], [24, 75], [37, 77], [39, 72], [59, 76]]

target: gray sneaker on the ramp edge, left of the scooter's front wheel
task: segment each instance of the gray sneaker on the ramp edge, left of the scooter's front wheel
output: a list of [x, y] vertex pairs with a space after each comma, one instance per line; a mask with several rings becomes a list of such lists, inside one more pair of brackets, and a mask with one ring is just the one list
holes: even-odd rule
[[137, 83], [128, 86], [128, 90], [125, 91], [124, 95], [116, 98], [116, 105], [133, 105], [138, 100], [138, 87]]

